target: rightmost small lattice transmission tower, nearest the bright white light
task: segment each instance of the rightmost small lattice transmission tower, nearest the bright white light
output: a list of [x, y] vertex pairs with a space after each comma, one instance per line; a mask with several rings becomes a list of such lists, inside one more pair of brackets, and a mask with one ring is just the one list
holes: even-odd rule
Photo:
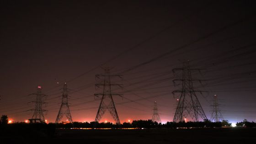
[[219, 110], [219, 101], [218, 101], [218, 97], [217, 95], [214, 95], [213, 96], [213, 105], [211, 105], [213, 107], [213, 111], [212, 112], [212, 115], [211, 115], [211, 121], [214, 121], [214, 122], [221, 122], [224, 120], [220, 110]]

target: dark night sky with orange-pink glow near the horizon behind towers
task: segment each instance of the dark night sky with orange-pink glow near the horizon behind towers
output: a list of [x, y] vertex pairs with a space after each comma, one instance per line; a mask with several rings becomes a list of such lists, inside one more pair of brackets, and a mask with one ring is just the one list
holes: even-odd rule
[[[216, 94], [224, 119], [256, 121], [253, 0], [39, 1], [0, 2], [0, 115], [31, 118], [29, 94], [41, 85], [45, 118], [55, 122], [67, 82], [73, 121], [94, 121], [103, 65], [123, 75], [113, 83], [124, 88], [112, 89], [123, 93], [113, 96], [121, 123], [151, 119], [154, 101], [170, 122], [179, 96], [171, 92], [181, 88], [172, 69], [189, 59], [205, 69], [192, 77], [207, 80], [194, 87], [209, 91], [197, 95], [208, 118]], [[105, 120], [113, 122], [107, 112]]]

